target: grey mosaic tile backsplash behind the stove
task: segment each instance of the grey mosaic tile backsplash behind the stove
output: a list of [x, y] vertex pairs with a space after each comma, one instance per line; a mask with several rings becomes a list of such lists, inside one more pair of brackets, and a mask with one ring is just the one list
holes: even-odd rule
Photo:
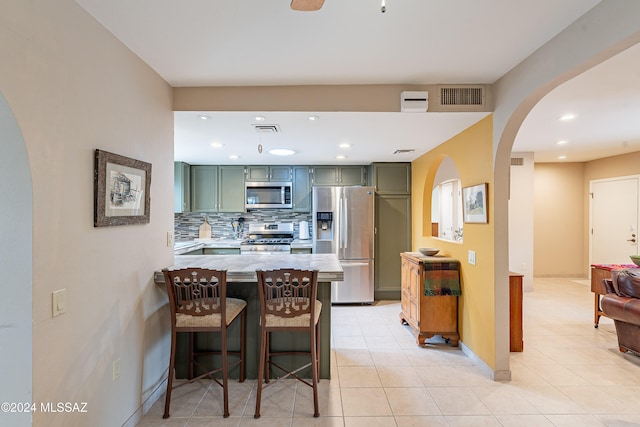
[[[274, 222], [292, 222], [294, 238], [298, 238], [300, 234], [300, 221], [307, 221], [311, 227], [311, 213], [293, 212], [291, 209], [261, 209], [249, 212], [185, 212], [174, 214], [175, 218], [175, 241], [193, 240], [198, 238], [198, 230], [204, 222], [205, 216], [207, 222], [211, 225], [211, 234], [214, 239], [232, 239], [233, 228], [231, 223], [237, 221], [238, 218], [244, 218], [245, 224], [250, 222], [274, 223]], [[245, 230], [248, 228], [245, 225]], [[309, 230], [311, 234], [311, 229]]]

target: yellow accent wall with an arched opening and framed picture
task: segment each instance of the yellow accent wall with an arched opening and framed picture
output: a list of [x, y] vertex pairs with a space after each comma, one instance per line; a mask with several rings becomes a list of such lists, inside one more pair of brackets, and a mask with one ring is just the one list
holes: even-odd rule
[[[440, 163], [450, 157], [463, 187], [487, 183], [487, 224], [464, 224], [462, 243], [431, 236], [431, 190]], [[460, 260], [462, 296], [458, 299], [458, 329], [462, 342], [495, 369], [495, 280], [493, 211], [493, 115], [412, 162], [413, 250], [437, 247]], [[476, 252], [476, 265], [467, 262]]]

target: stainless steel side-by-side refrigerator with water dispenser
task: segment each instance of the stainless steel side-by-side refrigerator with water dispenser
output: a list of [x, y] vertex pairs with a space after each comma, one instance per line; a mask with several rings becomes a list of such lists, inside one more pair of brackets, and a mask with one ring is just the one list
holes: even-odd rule
[[344, 281], [331, 283], [333, 303], [373, 302], [373, 187], [313, 187], [313, 253], [333, 253]]

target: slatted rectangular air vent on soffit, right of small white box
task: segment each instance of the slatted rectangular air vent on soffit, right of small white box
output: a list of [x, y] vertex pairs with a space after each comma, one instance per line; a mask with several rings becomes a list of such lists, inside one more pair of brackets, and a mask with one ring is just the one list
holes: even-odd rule
[[491, 111], [490, 85], [437, 85], [437, 99], [429, 111]]

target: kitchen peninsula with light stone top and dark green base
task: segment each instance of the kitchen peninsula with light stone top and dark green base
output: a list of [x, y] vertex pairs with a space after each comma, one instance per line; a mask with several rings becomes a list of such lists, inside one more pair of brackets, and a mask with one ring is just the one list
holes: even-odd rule
[[[318, 300], [323, 309], [320, 314], [320, 377], [330, 377], [331, 359], [331, 282], [344, 280], [344, 272], [338, 258], [333, 254], [245, 254], [245, 255], [182, 255], [175, 257], [175, 264], [169, 268], [198, 267], [227, 270], [227, 294], [230, 297], [242, 298], [247, 301], [247, 378], [258, 375], [258, 353], [260, 334], [258, 321], [260, 306], [258, 304], [258, 288], [256, 270], [297, 268], [304, 270], [316, 269], [318, 273]], [[155, 283], [164, 289], [164, 275], [156, 271]], [[236, 324], [229, 329], [229, 348], [237, 348], [239, 334]], [[210, 334], [208, 334], [210, 335]], [[283, 343], [288, 348], [295, 343], [300, 349], [308, 348], [308, 338], [303, 334], [282, 333], [271, 340], [273, 348]], [[217, 345], [211, 337], [198, 337], [196, 347], [208, 349]], [[187, 340], [179, 339], [176, 354], [176, 377], [186, 376]], [[286, 362], [285, 362], [286, 363]], [[231, 372], [234, 375], [234, 372]]]

